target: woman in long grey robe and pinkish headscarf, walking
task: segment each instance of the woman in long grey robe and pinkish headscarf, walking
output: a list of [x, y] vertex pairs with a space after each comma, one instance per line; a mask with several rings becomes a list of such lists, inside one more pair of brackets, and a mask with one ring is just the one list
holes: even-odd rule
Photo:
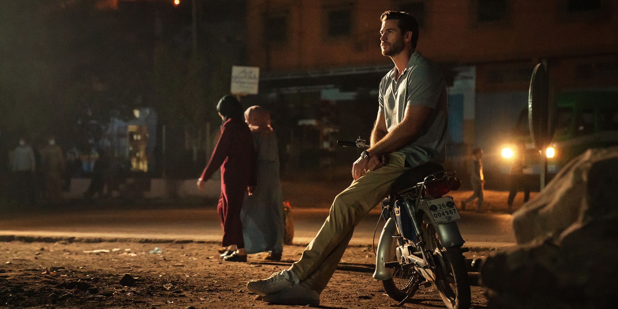
[[245, 111], [257, 155], [256, 188], [240, 210], [247, 253], [269, 252], [265, 260], [279, 261], [283, 252], [284, 209], [279, 179], [279, 148], [269, 112], [260, 106]]

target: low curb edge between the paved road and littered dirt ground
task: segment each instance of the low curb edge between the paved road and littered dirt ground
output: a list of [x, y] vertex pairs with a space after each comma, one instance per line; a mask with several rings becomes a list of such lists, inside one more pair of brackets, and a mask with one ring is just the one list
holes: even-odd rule
[[[304, 240], [304, 239], [303, 239]], [[147, 237], [75, 237], [67, 235], [43, 236], [25, 234], [3, 234], [0, 242], [45, 242], [45, 243], [101, 243], [101, 242], [135, 242], [135, 243], [220, 243], [220, 240], [212, 239], [175, 239], [175, 238], [147, 238]], [[306, 247], [308, 242], [295, 242], [298, 247]], [[377, 245], [377, 243], [376, 243]], [[491, 242], [467, 242], [470, 252], [497, 251], [515, 245], [515, 243], [491, 243]], [[371, 243], [350, 243], [348, 247], [371, 247]]]

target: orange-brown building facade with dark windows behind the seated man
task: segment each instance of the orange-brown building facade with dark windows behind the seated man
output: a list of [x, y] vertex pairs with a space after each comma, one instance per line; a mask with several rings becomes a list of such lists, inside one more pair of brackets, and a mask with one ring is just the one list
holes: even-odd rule
[[288, 145], [311, 135], [306, 125], [299, 130], [310, 122], [298, 121], [316, 121], [317, 136], [301, 150], [332, 147], [324, 128], [337, 138], [368, 137], [379, 80], [392, 68], [379, 49], [386, 10], [417, 17], [417, 50], [442, 67], [451, 158], [480, 146], [491, 163], [527, 106], [539, 61], [548, 63], [552, 91], [618, 88], [615, 1], [255, 0], [246, 9], [247, 64], [261, 69], [258, 101], [282, 113], [275, 123]]

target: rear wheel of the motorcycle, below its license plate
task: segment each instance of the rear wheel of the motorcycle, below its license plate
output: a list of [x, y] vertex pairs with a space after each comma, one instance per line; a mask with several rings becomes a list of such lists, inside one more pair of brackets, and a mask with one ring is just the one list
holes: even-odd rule
[[461, 247], [442, 247], [433, 224], [423, 216], [425, 237], [432, 251], [436, 268], [436, 289], [449, 309], [470, 308], [470, 282]]

